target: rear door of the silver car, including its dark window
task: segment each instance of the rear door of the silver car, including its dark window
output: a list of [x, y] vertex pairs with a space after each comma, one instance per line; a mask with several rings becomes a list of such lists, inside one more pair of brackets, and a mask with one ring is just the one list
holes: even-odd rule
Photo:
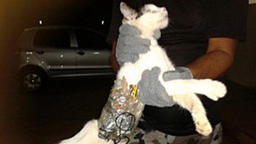
[[51, 77], [76, 76], [75, 50], [70, 46], [69, 29], [43, 29], [35, 34], [34, 53]]

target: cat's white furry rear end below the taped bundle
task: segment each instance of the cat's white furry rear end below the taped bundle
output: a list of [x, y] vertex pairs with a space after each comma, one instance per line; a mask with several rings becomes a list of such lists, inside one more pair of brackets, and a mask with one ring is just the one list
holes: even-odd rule
[[106, 142], [98, 137], [98, 122], [91, 120], [74, 137], [62, 140], [59, 144], [113, 144], [111, 142]]

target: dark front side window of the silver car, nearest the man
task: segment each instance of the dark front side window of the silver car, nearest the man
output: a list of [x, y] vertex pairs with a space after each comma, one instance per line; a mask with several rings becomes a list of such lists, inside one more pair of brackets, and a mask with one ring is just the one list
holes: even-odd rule
[[100, 33], [76, 29], [76, 39], [79, 48], [84, 49], [107, 49], [106, 37]]

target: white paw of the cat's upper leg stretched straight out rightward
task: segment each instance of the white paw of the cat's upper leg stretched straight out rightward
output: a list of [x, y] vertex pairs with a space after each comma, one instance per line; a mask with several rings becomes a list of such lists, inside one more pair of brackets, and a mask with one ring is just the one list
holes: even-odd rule
[[219, 98], [224, 97], [227, 93], [226, 86], [219, 81], [206, 79], [204, 80], [203, 85], [203, 94], [214, 101], [217, 101]]

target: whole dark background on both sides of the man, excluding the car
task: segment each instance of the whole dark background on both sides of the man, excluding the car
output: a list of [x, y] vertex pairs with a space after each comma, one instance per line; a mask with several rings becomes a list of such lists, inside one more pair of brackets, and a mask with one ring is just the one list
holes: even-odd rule
[[[111, 5], [112, 0], [0, 1], [0, 144], [53, 144], [98, 118], [114, 76], [58, 80], [43, 92], [24, 93], [13, 77], [12, 45], [39, 20], [107, 34]], [[226, 77], [224, 144], [256, 144], [256, 4], [249, 6], [247, 33]]]

